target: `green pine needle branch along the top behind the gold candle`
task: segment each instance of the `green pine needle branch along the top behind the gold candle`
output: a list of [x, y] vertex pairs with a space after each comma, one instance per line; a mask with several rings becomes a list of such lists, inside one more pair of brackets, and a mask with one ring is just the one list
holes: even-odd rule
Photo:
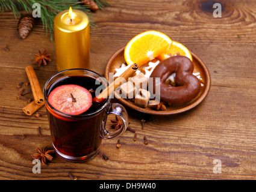
[[[109, 4], [105, 0], [93, 0], [96, 2], [100, 9], [105, 8]], [[90, 19], [90, 26], [95, 27], [93, 22], [93, 14], [90, 13], [88, 5], [83, 5], [80, 0], [0, 0], [0, 11], [11, 10], [14, 13], [14, 17], [20, 16], [19, 11], [26, 11], [27, 13], [33, 12], [33, 4], [38, 3], [41, 6], [41, 20], [43, 23], [43, 29], [46, 31], [46, 35], [51, 34], [51, 41], [53, 40], [54, 32], [54, 17], [58, 12], [68, 10], [72, 7], [76, 10], [81, 10], [87, 13]]]

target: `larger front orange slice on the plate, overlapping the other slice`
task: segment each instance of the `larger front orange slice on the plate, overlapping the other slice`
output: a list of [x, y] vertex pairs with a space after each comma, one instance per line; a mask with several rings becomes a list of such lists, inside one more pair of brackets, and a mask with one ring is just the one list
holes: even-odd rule
[[145, 31], [132, 38], [125, 47], [125, 61], [128, 65], [143, 65], [166, 53], [172, 45], [172, 40], [158, 31]]

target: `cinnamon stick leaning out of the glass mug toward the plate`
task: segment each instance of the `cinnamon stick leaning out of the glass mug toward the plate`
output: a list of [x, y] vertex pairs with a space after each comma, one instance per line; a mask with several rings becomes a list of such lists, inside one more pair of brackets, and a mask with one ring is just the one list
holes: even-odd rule
[[93, 102], [101, 103], [110, 94], [114, 92], [122, 83], [124, 83], [129, 77], [131, 77], [139, 68], [139, 65], [133, 64], [128, 69], [126, 69], [119, 77], [117, 77], [107, 88], [105, 88], [101, 94], [93, 98]]

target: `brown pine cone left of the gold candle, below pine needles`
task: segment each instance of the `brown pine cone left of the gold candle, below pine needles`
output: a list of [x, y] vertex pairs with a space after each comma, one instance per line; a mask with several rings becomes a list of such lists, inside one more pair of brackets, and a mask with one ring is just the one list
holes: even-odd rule
[[30, 14], [26, 14], [20, 17], [17, 30], [22, 39], [26, 38], [34, 26], [34, 17]]

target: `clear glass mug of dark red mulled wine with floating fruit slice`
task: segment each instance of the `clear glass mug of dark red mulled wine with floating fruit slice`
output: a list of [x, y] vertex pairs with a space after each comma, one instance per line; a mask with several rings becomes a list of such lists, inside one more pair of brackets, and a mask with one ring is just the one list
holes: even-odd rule
[[[125, 132], [128, 114], [121, 104], [110, 103], [111, 95], [101, 103], [92, 101], [107, 86], [104, 77], [85, 69], [60, 71], [46, 82], [43, 96], [52, 145], [64, 160], [90, 160], [99, 152], [102, 139]], [[119, 130], [105, 128], [110, 114], [122, 119]]]

